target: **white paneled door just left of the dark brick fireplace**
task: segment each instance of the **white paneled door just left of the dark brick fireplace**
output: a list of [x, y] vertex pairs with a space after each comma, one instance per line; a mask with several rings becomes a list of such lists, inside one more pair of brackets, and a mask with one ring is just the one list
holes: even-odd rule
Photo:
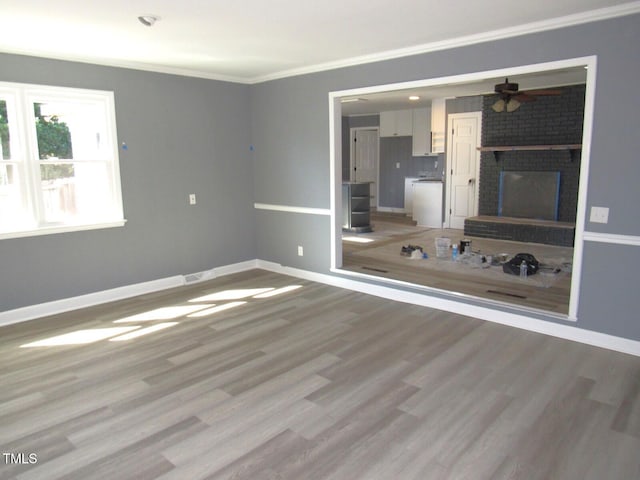
[[449, 115], [447, 131], [447, 206], [449, 228], [464, 228], [478, 214], [481, 112]]

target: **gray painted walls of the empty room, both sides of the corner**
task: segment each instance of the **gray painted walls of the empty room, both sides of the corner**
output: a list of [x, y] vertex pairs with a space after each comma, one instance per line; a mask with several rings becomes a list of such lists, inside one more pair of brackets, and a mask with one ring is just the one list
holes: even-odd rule
[[[127, 225], [0, 241], [0, 311], [256, 257], [330, 273], [329, 217], [252, 210], [253, 201], [329, 208], [328, 92], [588, 55], [598, 56], [588, 205], [611, 212], [586, 228], [639, 236], [638, 25], [634, 15], [250, 87], [0, 55], [3, 81], [114, 90], [129, 145]], [[579, 328], [640, 340], [637, 253], [586, 243]]]

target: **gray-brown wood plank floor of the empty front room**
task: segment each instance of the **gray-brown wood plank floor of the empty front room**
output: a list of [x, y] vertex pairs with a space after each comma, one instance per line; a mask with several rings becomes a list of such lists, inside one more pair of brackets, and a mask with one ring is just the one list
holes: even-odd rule
[[640, 358], [261, 270], [0, 342], [2, 480], [640, 478]]

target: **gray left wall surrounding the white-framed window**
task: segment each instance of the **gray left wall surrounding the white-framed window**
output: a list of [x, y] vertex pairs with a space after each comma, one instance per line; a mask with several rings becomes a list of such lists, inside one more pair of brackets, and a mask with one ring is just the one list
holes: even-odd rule
[[5, 54], [0, 81], [114, 91], [128, 145], [126, 226], [0, 240], [0, 311], [256, 257], [249, 87]]

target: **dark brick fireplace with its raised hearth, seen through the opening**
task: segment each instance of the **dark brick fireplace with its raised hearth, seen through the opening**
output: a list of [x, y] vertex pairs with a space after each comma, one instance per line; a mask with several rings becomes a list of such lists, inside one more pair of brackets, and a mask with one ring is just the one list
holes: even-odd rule
[[[581, 151], [569, 146], [582, 143], [585, 85], [561, 90], [561, 95], [537, 97], [535, 102], [523, 103], [514, 112], [494, 112], [491, 106], [497, 97], [484, 97], [482, 146], [508, 149], [481, 153], [479, 217], [465, 221], [465, 235], [573, 245]], [[558, 148], [559, 145], [566, 147]], [[517, 148], [522, 146], [539, 148]], [[557, 220], [500, 216], [502, 172], [557, 172]]]

